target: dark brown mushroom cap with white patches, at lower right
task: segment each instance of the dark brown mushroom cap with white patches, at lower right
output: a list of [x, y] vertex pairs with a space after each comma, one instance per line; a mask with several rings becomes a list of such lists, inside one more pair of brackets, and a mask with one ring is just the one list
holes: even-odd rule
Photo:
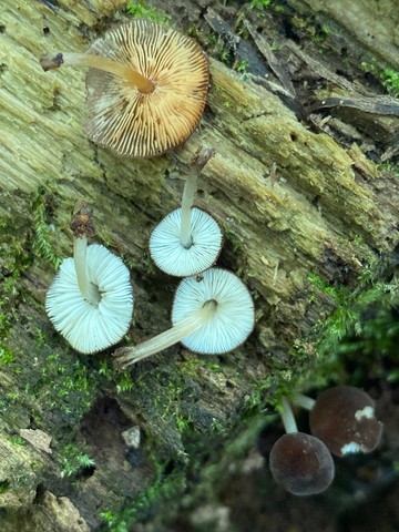
[[351, 386], [320, 393], [310, 410], [309, 424], [311, 433], [337, 457], [372, 451], [382, 433], [382, 423], [375, 417], [375, 401]]

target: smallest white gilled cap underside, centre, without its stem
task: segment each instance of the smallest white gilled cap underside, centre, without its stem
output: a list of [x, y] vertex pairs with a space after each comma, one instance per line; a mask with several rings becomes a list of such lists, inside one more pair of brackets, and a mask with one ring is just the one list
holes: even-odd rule
[[222, 249], [223, 235], [217, 222], [205, 211], [193, 207], [191, 226], [193, 244], [181, 242], [182, 209], [166, 215], [150, 237], [150, 254], [156, 266], [168, 275], [186, 277], [209, 268]]

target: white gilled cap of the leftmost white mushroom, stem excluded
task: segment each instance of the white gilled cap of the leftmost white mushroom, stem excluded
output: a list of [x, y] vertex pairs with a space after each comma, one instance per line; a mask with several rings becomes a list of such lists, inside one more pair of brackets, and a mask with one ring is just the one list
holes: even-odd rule
[[98, 306], [80, 293], [73, 258], [65, 258], [50, 286], [45, 310], [55, 329], [80, 352], [101, 351], [127, 331], [133, 313], [130, 274], [120, 257], [92, 244], [86, 252], [86, 273], [98, 286]]

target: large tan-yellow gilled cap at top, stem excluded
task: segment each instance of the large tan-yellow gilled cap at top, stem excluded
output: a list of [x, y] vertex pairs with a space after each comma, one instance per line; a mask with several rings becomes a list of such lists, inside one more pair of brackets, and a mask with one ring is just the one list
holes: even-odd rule
[[208, 62], [191, 38], [143, 19], [110, 30], [88, 53], [124, 64], [151, 80], [141, 93], [120, 78], [90, 69], [86, 74], [89, 137], [119, 155], [150, 157], [182, 144], [205, 108]]

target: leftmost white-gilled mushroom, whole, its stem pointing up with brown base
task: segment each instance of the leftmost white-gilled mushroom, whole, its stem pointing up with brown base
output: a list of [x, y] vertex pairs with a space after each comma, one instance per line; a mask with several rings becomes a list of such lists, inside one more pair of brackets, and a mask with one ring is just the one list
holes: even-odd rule
[[65, 258], [50, 286], [45, 310], [55, 329], [80, 352], [116, 344], [133, 313], [130, 274], [104, 246], [88, 246], [94, 235], [92, 211], [78, 202], [71, 221], [73, 258]]

